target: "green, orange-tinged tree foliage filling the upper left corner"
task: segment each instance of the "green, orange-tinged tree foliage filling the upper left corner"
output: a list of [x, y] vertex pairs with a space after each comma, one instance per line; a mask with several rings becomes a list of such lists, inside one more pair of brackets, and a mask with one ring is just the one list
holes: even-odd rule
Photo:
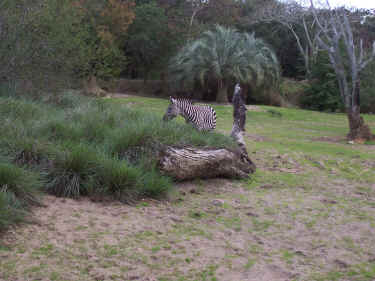
[[125, 68], [131, 1], [2, 1], [0, 84], [18, 91], [71, 87]]

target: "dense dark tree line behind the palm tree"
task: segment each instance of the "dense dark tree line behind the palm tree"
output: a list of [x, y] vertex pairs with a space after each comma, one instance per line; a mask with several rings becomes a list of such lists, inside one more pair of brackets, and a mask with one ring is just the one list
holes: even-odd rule
[[[347, 12], [356, 40], [362, 38], [364, 50], [370, 51], [374, 11]], [[325, 52], [315, 48], [314, 22], [308, 9], [295, 1], [4, 0], [0, 3], [0, 81], [35, 88], [82, 81], [95, 86], [96, 78], [171, 81], [175, 56], [219, 24], [253, 34], [273, 50], [282, 77], [308, 79], [300, 105], [341, 110], [335, 72]], [[375, 110], [373, 69], [373, 64], [367, 66], [361, 82], [366, 111]], [[233, 77], [226, 81], [229, 93], [238, 78]], [[173, 86], [185, 94], [193, 92], [195, 98], [214, 100], [224, 80], [217, 83], [211, 78], [193, 81], [187, 88]], [[244, 85], [247, 102], [267, 103], [270, 93], [280, 92], [277, 83], [274, 89], [265, 84]]]

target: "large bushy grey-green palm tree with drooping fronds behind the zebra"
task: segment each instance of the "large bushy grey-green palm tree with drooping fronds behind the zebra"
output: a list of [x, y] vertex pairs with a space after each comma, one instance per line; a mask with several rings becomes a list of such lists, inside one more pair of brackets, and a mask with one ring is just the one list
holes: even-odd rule
[[218, 102], [227, 102], [230, 82], [261, 86], [278, 81], [279, 63], [275, 53], [254, 34], [216, 25], [201, 38], [188, 43], [172, 58], [169, 77], [183, 87], [195, 81], [218, 84]]

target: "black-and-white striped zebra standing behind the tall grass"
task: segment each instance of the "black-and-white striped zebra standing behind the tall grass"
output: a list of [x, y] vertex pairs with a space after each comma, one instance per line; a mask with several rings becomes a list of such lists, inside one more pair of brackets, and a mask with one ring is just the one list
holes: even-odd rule
[[185, 118], [186, 123], [191, 123], [198, 131], [211, 131], [216, 128], [216, 112], [208, 105], [194, 105], [191, 100], [169, 97], [170, 104], [163, 116], [164, 121], [169, 121], [177, 115]]

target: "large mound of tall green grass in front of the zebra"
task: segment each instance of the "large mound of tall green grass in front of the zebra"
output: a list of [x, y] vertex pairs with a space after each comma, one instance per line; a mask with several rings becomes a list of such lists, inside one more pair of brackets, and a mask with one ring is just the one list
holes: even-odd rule
[[160, 198], [171, 188], [155, 164], [164, 145], [236, 146], [222, 134], [105, 100], [68, 93], [43, 101], [0, 98], [0, 156], [39, 172], [56, 196]]

